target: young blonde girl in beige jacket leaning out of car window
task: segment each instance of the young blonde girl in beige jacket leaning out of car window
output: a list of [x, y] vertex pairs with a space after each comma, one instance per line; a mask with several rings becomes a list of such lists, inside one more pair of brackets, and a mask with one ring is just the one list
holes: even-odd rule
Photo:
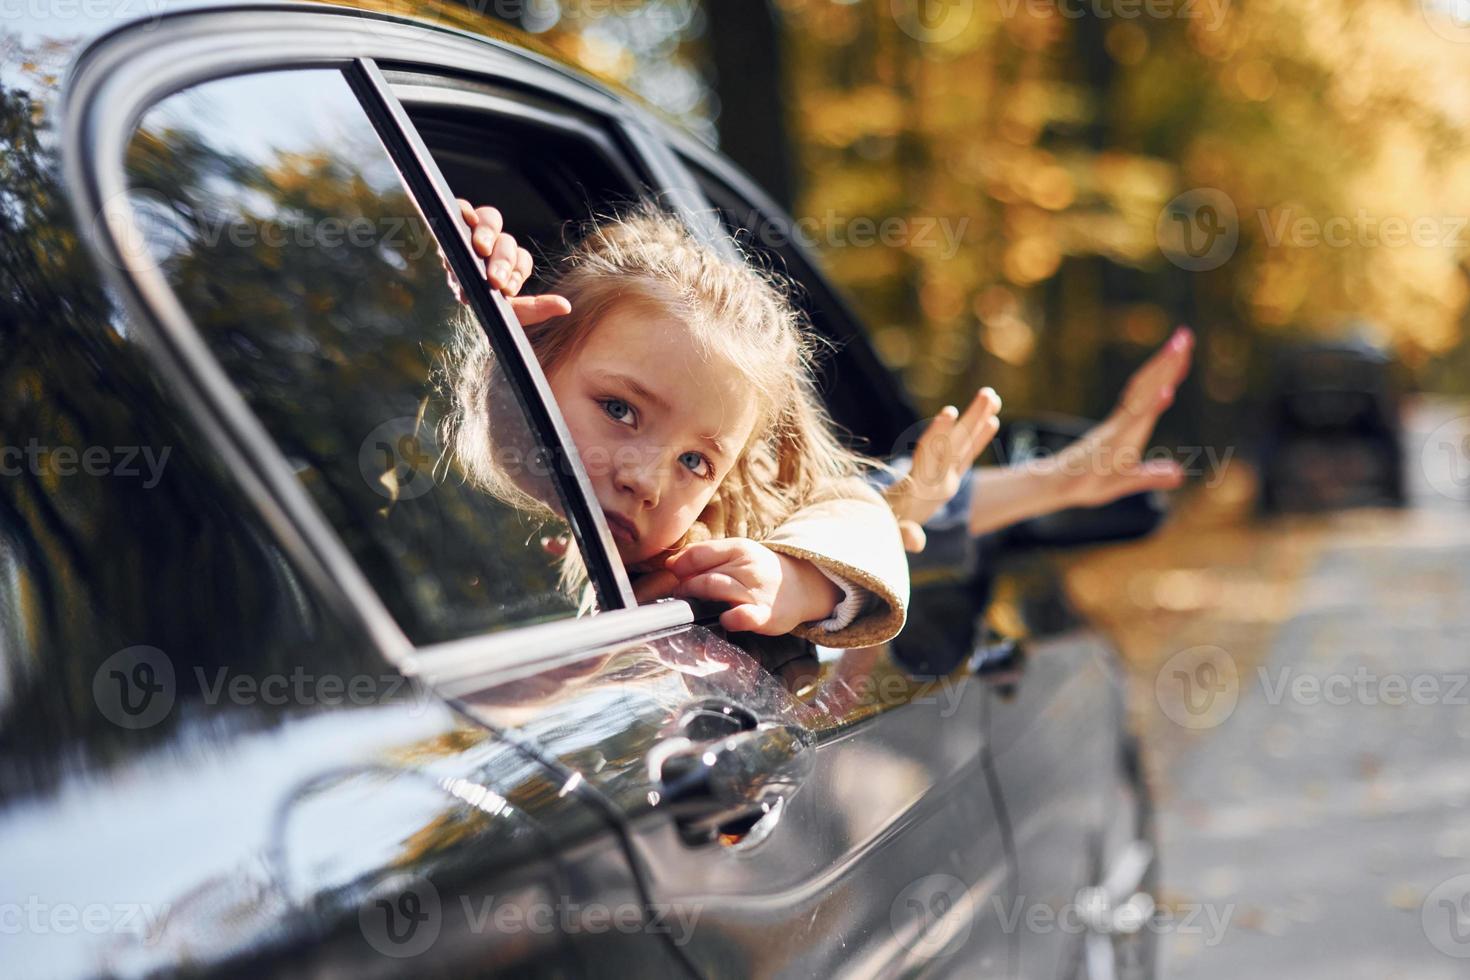
[[[720, 624], [828, 646], [891, 639], [908, 570], [892, 510], [863, 479], [875, 461], [833, 435], [813, 344], [778, 284], [651, 207], [592, 225], [553, 294], [516, 297], [531, 256], [494, 209], [462, 204], [488, 279], [512, 298], [607, 517], [639, 601], [704, 598]], [[451, 433], [488, 488], [488, 345]]]

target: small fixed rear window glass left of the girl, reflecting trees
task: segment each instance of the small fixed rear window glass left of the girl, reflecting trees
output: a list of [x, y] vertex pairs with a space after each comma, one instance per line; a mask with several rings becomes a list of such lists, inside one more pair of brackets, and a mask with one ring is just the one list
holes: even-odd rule
[[138, 247], [410, 639], [589, 605], [516, 392], [341, 72], [176, 94], [126, 167]]

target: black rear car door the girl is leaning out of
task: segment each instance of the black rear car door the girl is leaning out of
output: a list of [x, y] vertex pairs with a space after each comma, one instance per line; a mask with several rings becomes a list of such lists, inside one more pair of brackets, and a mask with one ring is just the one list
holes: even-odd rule
[[[514, 87], [463, 72], [390, 81], [454, 192], [498, 204], [498, 188], [507, 215], [545, 229], [532, 241], [638, 192], [607, 191], [616, 173], [697, 228], [710, 220], [684, 204], [701, 191], [656, 128], [560, 79], [526, 91], [529, 75]], [[535, 717], [473, 669], [442, 670], [435, 683], [469, 711], [497, 726], [520, 717], [526, 738], [616, 804], [695, 971], [1005, 974], [1008, 940], [989, 911], [1008, 865], [983, 773], [983, 688], [963, 670], [917, 679], [883, 646], [823, 651], [778, 677], [695, 627], [569, 664], [575, 682]]]

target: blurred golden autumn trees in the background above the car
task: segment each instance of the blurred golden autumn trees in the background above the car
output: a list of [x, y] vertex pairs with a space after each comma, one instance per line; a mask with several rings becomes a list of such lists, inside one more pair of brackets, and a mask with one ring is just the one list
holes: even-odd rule
[[[989, 382], [1013, 411], [1098, 413], [1176, 320], [1204, 341], [1176, 423], [1202, 435], [1297, 338], [1361, 335], [1466, 385], [1470, 32], [1429, 0], [775, 0], [772, 50], [759, 4], [750, 24], [725, 0], [551, 6], [554, 46], [767, 182], [751, 107], [785, 94], [794, 215], [928, 407]], [[673, 9], [654, 38], [648, 12]], [[711, 71], [741, 46], [753, 71]], [[772, 51], [775, 78], [754, 71]], [[892, 216], [903, 244], [851, 241]], [[957, 248], [931, 219], [969, 219]], [[1216, 223], [1233, 250], [1176, 253]]]

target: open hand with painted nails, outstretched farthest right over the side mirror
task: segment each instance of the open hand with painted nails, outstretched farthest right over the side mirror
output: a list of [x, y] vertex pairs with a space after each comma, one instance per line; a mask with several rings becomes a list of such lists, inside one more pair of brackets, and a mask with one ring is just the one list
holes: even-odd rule
[[1180, 326], [1133, 372], [1117, 407], [1095, 429], [1057, 455], [1066, 507], [1098, 507], [1129, 494], [1173, 489], [1183, 470], [1173, 460], [1144, 461], [1158, 417], [1175, 403], [1189, 373], [1194, 334]]

